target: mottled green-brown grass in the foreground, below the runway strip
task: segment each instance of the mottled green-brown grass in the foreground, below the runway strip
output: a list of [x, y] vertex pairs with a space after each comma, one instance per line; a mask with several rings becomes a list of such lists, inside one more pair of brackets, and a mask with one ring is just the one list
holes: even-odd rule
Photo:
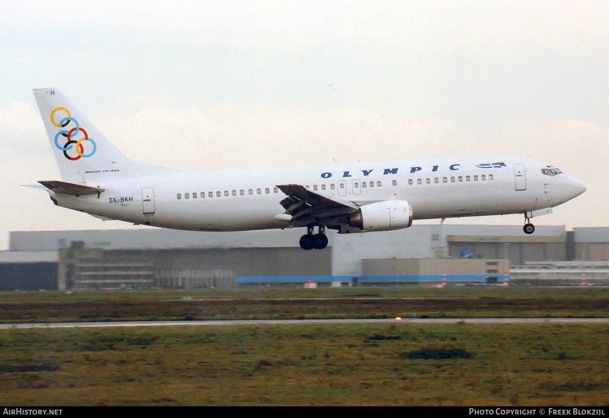
[[606, 325], [11, 329], [0, 404], [606, 405], [608, 339]]

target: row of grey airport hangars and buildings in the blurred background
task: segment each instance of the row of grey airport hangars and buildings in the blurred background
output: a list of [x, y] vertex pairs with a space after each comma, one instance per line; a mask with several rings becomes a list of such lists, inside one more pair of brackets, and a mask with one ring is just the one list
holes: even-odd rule
[[[160, 228], [10, 232], [0, 290], [369, 286], [566, 278], [609, 284], [609, 228], [413, 225], [334, 234], [298, 246], [300, 230], [189, 232]], [[490, 282], [489, 282], [490, 280]], [[596, 282], [595, 282], [596, 281]], [[606, 283], [607, 282], [607, 283]], [[556, 284], [556, 283], [554, 283]]]

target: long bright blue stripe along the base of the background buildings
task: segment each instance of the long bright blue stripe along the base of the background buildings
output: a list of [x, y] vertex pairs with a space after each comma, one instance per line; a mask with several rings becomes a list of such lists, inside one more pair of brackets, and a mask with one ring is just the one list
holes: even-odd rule
[[[446, 282], [485, 282], [487, 275], [466, 274], [466, 275], [446, 275]], [[501, 282], [502, 275], [493, 275]], [[237, 283], [331, 283], [331, 282], [351, 282], [353, 278], [358, 283], [370, 282], [442, 282], [442, 274], [429, 275], [385, 275], [385, 276], [239, 276], [235, 280]]]

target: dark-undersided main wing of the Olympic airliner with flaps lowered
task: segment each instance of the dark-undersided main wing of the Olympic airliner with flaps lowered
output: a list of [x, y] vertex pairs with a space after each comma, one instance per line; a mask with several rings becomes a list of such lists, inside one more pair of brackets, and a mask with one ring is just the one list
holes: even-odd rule
[[334, 196], [326, 196], [309, 190], [301, 185], [277, 185], [287, 194], [281, 200], [281, 206], [286, 210], [284, 213], [292, 216], [290, 227], [299, 227], [317, 222], [323, 218], [333, 218], [359, 209], [359, 206], [347, 200], [338, 199]]

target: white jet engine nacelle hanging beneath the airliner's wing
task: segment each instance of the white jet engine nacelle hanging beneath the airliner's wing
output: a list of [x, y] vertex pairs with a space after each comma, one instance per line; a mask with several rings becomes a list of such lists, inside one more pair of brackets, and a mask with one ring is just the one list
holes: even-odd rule
[[407, 200], [384, 200], [364, 205], [349, 217], [351, 227], [362, 231], [390, 231], [412, 225], [412, 206]]

